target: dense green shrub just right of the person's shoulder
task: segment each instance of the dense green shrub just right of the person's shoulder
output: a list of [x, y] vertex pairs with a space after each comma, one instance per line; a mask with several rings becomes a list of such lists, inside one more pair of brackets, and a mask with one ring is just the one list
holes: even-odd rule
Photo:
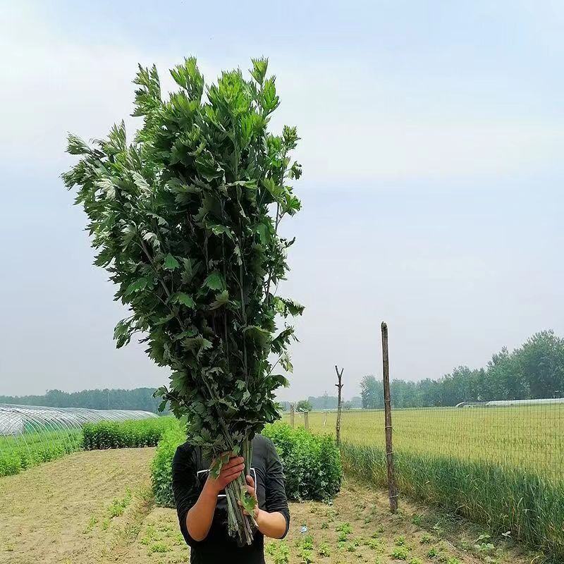
[[288, 499], [329, 501], [341, 489], [341, 453], [331, 436], [283, 423], [266, 425], [262, 434], [278, 450]]

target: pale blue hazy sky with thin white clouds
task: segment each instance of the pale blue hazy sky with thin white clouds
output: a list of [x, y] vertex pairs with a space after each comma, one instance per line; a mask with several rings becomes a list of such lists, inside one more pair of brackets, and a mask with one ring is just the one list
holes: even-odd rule
[[[0, 394], [157, 386], [59, 174], [67, 131], [132, 108], [137, 62], [208, 80], [265, 55], [298, 125], [303, 211], [283, 292], [307, 306], [281, 398], [439, 377], [564, 333], [559, 1], [1, 1]], [[135, 121], [126, 122], [130, 131]]]

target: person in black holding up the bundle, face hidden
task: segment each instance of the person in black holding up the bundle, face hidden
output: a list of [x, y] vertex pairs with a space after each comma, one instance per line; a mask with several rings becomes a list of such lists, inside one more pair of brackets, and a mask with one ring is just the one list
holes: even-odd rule
[[[183, 537], [191, 548], [192, 564], [264, 564], [264, 537], [283, 539], [290, 525], [290, 511], [283, 472], [274, 444], [262, 435], [252, 441], [252, 464], [246, 476], [247, 492], [255, 500], [252, 518], [256, 531], [252, 544], [228, 534], [225, 488], [245, 471], [243, 457], [231, 456], [214, 478], [212, 460], [202, 449], [180, 445], [173, 459], [173, 492]], [[240, 510], [248, 515], [247, 510]]]

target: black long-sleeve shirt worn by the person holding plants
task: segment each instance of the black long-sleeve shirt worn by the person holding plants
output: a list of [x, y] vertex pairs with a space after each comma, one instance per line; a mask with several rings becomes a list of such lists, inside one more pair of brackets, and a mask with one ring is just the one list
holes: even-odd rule
[[[178, 511], [180, 530], [190, 546], [190, 563], [218, 564], [229, 556], [230, 564], [264, 564], [264, 537], [255, 532], [250, 546], [240, 547], [229, 536], [227, 529], [227, 501], [219, 495], [207, 537], [195, 541], [186, 527], [186, 515], [197, 502], [207, 479], [211, 460], [202, 458], [200, 448], [185, 443], [176, 450], [173, 459], [173, 491]], [[290, 511], [284, 489], [280, 459], [272, 441], [262, 435], [252, 441], [252, 464], [250, 473], [255, 480], [259, 508], [269, 513], [279, 512], [286, 517], [286, 532], [290, 525]], [[286, 536], [286, 533], [285, 533]]]

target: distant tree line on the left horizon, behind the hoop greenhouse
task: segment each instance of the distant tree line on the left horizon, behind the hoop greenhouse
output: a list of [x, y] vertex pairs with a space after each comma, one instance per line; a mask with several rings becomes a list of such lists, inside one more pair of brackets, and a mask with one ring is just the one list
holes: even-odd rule
[[63, 392], [49, 390], [42, 396], [0, 396], [0, 403], [44, 405], [46, 407], [88, 407], [94, 410], [142, 410], [157, 413], [161, 400], [153, 397], [154, 388], [133, 390], [105, 389]]

